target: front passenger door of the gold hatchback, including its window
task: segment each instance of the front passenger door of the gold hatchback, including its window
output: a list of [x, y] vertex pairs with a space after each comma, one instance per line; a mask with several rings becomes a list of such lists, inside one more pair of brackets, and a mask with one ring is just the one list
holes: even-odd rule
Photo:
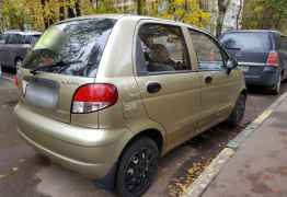
[[227, 54], [209, 35], [190, 30], [198, 61], [200, 79], [202, 119], [200, 131], [222, 121], [232, 111], [233, 97], [238, 92], [234, 73], [226, 70]]

